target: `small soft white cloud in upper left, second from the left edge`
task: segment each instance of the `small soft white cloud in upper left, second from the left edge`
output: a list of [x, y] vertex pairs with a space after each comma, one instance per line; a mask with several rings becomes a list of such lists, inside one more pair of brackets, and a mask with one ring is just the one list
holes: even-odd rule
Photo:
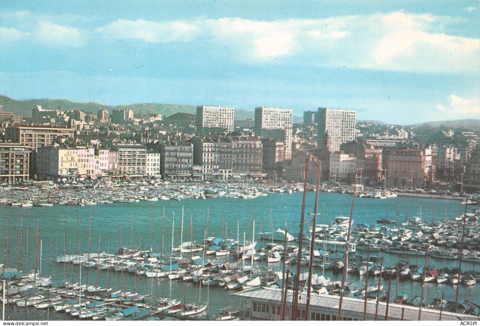
[[85, 36], [77, 28], [51, 22], [40, 22], [36, 31], [36, 41], [43, 44], [78, 47], [84, 44]]

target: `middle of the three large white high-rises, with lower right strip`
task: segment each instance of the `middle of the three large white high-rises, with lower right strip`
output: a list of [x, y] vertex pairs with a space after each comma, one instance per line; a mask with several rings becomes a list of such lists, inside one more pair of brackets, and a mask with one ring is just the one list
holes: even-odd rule
[[292, 157], [292, 119], [291, 109], [256, 107], [255, 135], [262, 138], [278, 138], [285, 145], [284, 159]]

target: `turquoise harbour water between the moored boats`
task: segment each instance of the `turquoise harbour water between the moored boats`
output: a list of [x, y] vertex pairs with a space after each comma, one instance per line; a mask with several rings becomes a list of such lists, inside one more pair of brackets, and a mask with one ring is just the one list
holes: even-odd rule
[[[77, 214], [79, 220], [79, 234], [81, 239], [81, 250], [86, 252], [88, 249], [88, 225], [90, 218], [90, 208], [92, 208], [92, 231], [91, 231], [91, 252], [98, 250], [98, 237], [101, 236], [100, 248], [101, 251], [108, 251], [108, 241], [110, 244], [110, 252], [115, 252], [118, 245], [120, 245], [120, 226], [122, 228], [123, 245], [130, 245], [131, 243], [131, 221], [133, 214], [133, 244], [140, 244], [140, 237], [142, 238], [142, 249], [147, 250], [152, 247], [154, 251], [156, 248], [161, 248], [162, 240], [162, 225], [163, 225], [163, 210], [165, 207], [165, 234], [164, 234], [164, 251], [168, 252], [171, 248], [172, 239], [172, 217], [175, 215], [175, 230], [174, 230], [174, 245], [180, 241], [180, 226], [181, 226], [181, 208], [184, 208], [184, 227], [183, 227], [183, 241], [190, 240], [190, 218], [192, 218], [193, 225], [193, 240], [201, 242], [204, 237], [204, 231], [207, 224], [207, 211], [209, 209], [209, 223], [208, 236], [220, 237], [222, 234], [222, 221], [225, 214], [225, 222], [228, 224], [229, 237], [237, 238], [237, 223], [239, 224], [240, 240], [243, 239], [243, 233], [246, 238], [251, 238], [252, 233], [252, 216], [255, 220], [255, 233], [262, 229], [268, 231], [270, 229], [270, 221], [272, 229], [284, 228], [285, 221], [287, 221], [288, 230], [293, 235], [297, 235], [299, 231], [300, 213], [301, 213], [302, 193], [274, 193], [268, 196], [260, 196], [254, 199], [233, 199], [233, 198], [212, 198], [207, 200], [202, 199], [184, 199], [178, 201], [158, 201], [154, 202], [139, 202], [131, 204], [98, 204], [93, 206], [67, 206], [54, 205], [53, 207], [12, 207], [1, 205], [1, 228], [0, 228], [0, 249], [4, 252], [5, 238], [7, 234], [6, 219], [9, 217], [10, 222], [10, 251], [9, 262], [10, 267], [18, 266], [18, 234], [20, 230], [20, 217], [24, 219], [24, 238], [23, 238], [23, 258], [22, 269], [25, 269], [25, 252], [26, 252], [26, 227], [29, 227], [29, 269], [32, 269], [35, 262], [35, 232], [37, 221], [39, 223], [40, 239], [43, 242], [42, 246], [42, 274], [52, 275], [52, 278], [63, 279], [64, 266], [59, 264], [56, 266], [54, 262], [49, 263], [49, 256], [52, 259], [56, 255], [56, 243], [58, 234], [58, 252], [63, 254], [63, 233], [66, 229], [66, 251], [69, 251], [70, 242], [72, 251], [77, 251]], [[371, 198], [355, 198], [355, 205], [353, 211], [354, 223], [375, 223], [377, 219], [384, 218], [387, 214], [387, 219], [396, 219], [396, 207], [398, 205], [399, 221], [402, 222], [406, 217], [418, 216], [418, 212], [422, 211], [422, 219], [426, 220], [440, 220], [444, 218], [446, 203], [447, 219], [452, 219], [456, 215], [463, 213], [464, 207], [460, 205], [459, 201], [445, 201], [429, 198], [411, 198], [411, 197], [397, 197], [385, 200], [375, 200]], [[314, 193], [307, 193], [306, 213], [313, 210]], [[319, 210], [323, 210], [324, 217], [320, 215], [317, 223], [330, 223], [340, 213], [348, 216], [350, 212], [351, 195], [341, 193], [320, 193]], [[151, 227], [152, 227], [152, 212], [154, 216], [153, 228], [153, 243], [151, 242]], [[271, 212], [271, 213], [270, 213]], [[305, 215], [308, 219], [308, 215]], [[290, 231], [291, 230], [291, 231]], [[225, 232], [225, 231], [224, 231]], [[257, 235], [255, 235], [257, 237]], [[50, 251], [51, 247], [51, 251]], [[257, 249], [260, 246], [257, 245]], [[393, 265], [399, 257], [390, 257], [385, 255], [385, 264]], [[403, 258], [402, 258], [403, 259]], [[412, 263], [416, 263], [416, 258], [410, 258]], [[435, 263], [433, 261], [433, 263]], [[419, 264], [422, 264], [420, 258]], [[440, 268], [440, 263], [435, 264]], [[445, 263], [446, 267], [455, 267], [457, 263]], [[67, 266], [68, 267], [68, 266]], [[77, 269], [78, 266], [75, 266]], [[277, 267], [278, 268], [278, 267]], [[463, 269], [472, 269], [474, 266], [464, 265]], [[68, 268], [67, 268], [68, 269]], [[316, 271], [321, 273], [321, 270]], [[69, 275], [73, 279], [78, 280], [77, 270], [73, 270]], [[82, 278], [86, 279], [86, 271], [82, 272]], [[114, 272], [109, 272], [110, 287], [113, 287]], [[341, 276], [325, 273], [332, 279], [340, 279]], [[127, 278], [127, 288], [133, 290], [133, 278], [130, 275], [125, 275]], [[71, 278], [71, 277], [70, 277]], [[94, 284], [96, 281], [96, 269], [90, 269], [88, 272], [89, 284]], [[107, 282], [107, 272], [100, 271], [99, 283], [105, 286]], [[158, 282], [156, 284], [156, 282]], [[170, 284], [171, 283], [171, 284]], [[141, 291], [150, 293], [150, 291], [157, 290], [158, 296], [170, 295], [183, 298], [184, 285], [182, 282], [169, 281], [168, 279], [152, 280], [149, 278], [141, 278]], [[394, 284], [392, 284], [392, 298], [396, 293]], [[118, 280], [118, 288], [120, 288], [120, 279]], [[196, 288], [192, 284], [187, 284], [187, 301], [192, 302], [202, 295], [201, 301], [207, 300], [207, 289], [202, 290]], [[386, 289], [386, 284], [385, 287]], [[475, 288], [461, 288], [460, 298], [476, 298], [479, 297], [479, 286]], [[208, 289], [209, 292], [209, 314], [214, 314], [219, 308], [226, 305], [231, 305], [231, 298], [229, 295], [233, 292], [228, 290], [212, 287]], [[418, 284], [411, 285], [410, 282], [401, 282], [398, 285], [399, 293], [407, 293], [419, 295], [420, 286]], [[429, 294], [430, 292], [430, 294]], [[431, 302], [433, 298], [441, 297], [445, 293], [445, 300], [455, 300], [455, 290], [449, 285], [427, 284], [427, 302]], [[451, 296], [453, 295], [453, 299]], [[450, 297], [450, 298], [449, 298]], [[474, 299], [474, 301], [476, 301]], [[239, 303], [234, 303], [235, 305]], [[38, 319], [45, 319], [46, 311], [29, 310], [29, 318], [37, 316]], [[12, 318], [23, 319], [23, 309], [12, 308]], [[69, 318], [67, 314], [54, 313], [51, 318], [65, 319]]]

